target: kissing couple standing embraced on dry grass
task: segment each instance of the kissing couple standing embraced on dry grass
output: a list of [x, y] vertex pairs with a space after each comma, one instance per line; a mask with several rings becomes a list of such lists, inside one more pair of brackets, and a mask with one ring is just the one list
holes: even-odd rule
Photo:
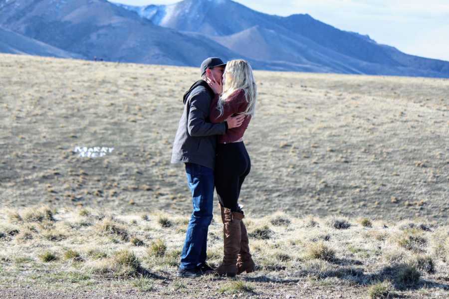
[[[254, 116], [257, 87], [245, 60], [225, 64], [210, 57], [200, 72], [202, 79], [184, 94], [171, 161], [185, 163], [193, 204], [177, 276], [217, 273], [233, 277], [255, 270], [238, 196], [251, 168], [243, 134]], [[217, 269], [206, 263], [214, 188], [224, 225], [224, 257]]]

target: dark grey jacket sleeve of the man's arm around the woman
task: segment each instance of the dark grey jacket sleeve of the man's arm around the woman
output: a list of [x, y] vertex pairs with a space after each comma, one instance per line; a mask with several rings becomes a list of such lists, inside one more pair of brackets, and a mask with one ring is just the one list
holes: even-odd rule
[[187, 121], [187, 131], [192, 137], [204, 137], [223, 135], [226, 133], [227, 124], [207, 123], [209, 115], [210, 99], [205, 93], [198, 93], [190, 99], [190, 112]]

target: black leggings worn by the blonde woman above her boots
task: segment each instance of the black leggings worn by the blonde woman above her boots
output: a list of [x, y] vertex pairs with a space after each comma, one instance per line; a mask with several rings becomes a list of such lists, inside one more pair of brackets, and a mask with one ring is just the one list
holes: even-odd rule
[[243, 142], [217, 145], [215, 188], [220, 203], [232, 212], [241, 211], [237, 200], [241, 184], [251, 169], [251, 161]]

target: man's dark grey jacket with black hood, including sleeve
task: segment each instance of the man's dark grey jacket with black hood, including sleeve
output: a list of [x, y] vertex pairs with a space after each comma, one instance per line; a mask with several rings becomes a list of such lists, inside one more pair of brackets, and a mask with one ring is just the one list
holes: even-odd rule
[[172, 163], [191, 162], [215, 168], [217, 135], [226, 133], [226, 122], [212, 124], [209, 119], [215, 92], [200, 80], [184, 94], [184, 112], [173, 144]]

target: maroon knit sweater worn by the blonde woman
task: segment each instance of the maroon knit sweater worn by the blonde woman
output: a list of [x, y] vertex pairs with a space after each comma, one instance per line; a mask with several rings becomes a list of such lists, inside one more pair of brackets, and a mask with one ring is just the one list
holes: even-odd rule
[[[221, 123], [224, 122], [228, 117], [235, 116], [239, 112], [246, 111], [248, 107], [248, 102], [246, 102], [245, 91], [243, 89], [237, 89], [234, 91], [223, 103], [223, 115], [220, 116], [220, 111], [217, 109], [217, 103], [219, 101], [219, 95], [215, 95], [211, 104], [211, 122]], [[238, 128], [228, 129], [224, 135], [219, 135], [218, 142], [221, 144], [230, 143], [239, 140], [243, 137], [246, 128], [248, 128], [251, 116], [247, 115]]]

